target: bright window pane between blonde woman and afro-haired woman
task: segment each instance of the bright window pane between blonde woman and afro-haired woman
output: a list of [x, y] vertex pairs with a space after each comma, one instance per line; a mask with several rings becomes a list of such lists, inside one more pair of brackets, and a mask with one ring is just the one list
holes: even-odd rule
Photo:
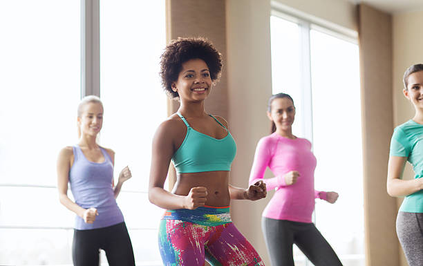
[[[164, 0], [100, 2], [101, 98], [104, 125], [100, 142], [115, 155], [115, 180], [129, 165], [118, 205], [128, 226], [137, 265], [162, 265], [158, 225], [163, 209], [147, 196], [151, 140], [167, 117], [160, 55], [166, 45]], [[102, 254], [102, 262], [106, 262]]]

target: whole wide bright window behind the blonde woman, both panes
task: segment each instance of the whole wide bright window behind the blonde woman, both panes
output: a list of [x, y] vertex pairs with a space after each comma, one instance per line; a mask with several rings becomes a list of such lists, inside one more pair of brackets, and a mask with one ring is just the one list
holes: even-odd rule
[[[162, 264], [156, 244], [162, 210], [149, 203], [147, 184], [151, 137], [167, 111], [158, 77], [165, 8], [164, 1], [146, 5], [0, 1], [0, 265], [72, 264], [75, 215], [57, 198], [56, 160], [77, 142], [77, 104], [90, 94], [104, 102], [100, 144], [116, 153], [115, 178], [127, 164], [133, 173], [118, 205], [135, 262]], [[84, 23], [95, 20], [100, 26], [91, 24], [90, 36], [100, 36], [98, 46], [82, 37]]]

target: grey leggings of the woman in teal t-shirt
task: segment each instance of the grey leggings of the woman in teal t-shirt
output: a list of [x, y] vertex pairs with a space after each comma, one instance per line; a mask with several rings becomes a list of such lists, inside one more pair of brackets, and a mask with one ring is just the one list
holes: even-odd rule
[[397, 235], [408, 265], [423, 265], [423, 213], [399, 211]]

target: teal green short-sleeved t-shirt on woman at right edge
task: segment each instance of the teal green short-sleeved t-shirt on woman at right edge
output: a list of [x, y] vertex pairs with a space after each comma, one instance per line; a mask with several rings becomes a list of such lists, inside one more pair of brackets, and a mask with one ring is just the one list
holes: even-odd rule
[[[423, 125], [408, 120], [397, 126], [391, 139], [390, 156], [406, 157], [413, 165], [414, 178], [423, 177]], [[406, 196], [400, 211], [423, 213], [423, 190]]]

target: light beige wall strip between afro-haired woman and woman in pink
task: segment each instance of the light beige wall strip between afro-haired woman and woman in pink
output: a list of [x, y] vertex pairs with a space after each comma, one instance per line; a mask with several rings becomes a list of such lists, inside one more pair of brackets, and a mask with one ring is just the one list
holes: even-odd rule
[[[230, 182], [246, 187], [256, 143], [269, 129], [265, 110], [272, 95], [270, 2], [229, 0], [226, 8], [229, 126], [237, 146]], [[236, 227], [270, 265], [260, 222], [267, 201], [234, 200], [231, 213]]]

